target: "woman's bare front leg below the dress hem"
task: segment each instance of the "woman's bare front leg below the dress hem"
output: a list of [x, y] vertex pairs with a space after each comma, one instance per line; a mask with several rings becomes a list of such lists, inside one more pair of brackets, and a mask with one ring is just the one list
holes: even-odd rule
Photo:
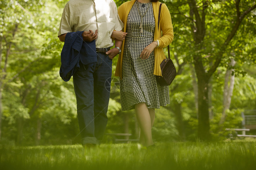
[[[150, 146], [153, 143], [152, 140], [152, 119], [151, 115], [149, 114], [149, 109], [147, 108], [146, 103], [138, 103], [135, 105], [135, 113], [141, 128], [141, 136], [140, 141], [144, 146]], [[153, 116], [153, 115], [152, 115]], [[153, 120], [154, 121], [154, 120]]]

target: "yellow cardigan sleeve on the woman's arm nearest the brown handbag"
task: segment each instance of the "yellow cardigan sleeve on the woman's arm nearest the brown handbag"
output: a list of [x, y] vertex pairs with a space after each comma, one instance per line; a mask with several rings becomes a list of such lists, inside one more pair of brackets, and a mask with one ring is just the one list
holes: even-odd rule
[[160, 14], [160, 29], [163, 31], [163, 36], [158, 39], [159, 48], [164, 48], [171, 44], [174, 38], [173, 26], [171, 23], [171, 15], [166, 4], [162, 4]]

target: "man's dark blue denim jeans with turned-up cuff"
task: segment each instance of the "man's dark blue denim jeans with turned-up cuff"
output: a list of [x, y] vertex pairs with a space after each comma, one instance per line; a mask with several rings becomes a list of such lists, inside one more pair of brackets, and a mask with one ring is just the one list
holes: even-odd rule
[[111, 78], [112, 60], [99, 52], [97, 58], [97, 63], [80, 62], [80, 69], [73, 75], [82, 145], [100, 144], [107, 125], [110, 87], [106, 88], [105, 82]]

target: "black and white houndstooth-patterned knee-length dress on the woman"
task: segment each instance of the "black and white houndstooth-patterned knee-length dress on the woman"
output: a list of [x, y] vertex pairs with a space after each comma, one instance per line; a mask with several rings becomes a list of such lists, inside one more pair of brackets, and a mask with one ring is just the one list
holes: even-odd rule
[[141, 17], [136, 2], [133, 4], [127, 18], [127, 36], [124, 43], [122, 62], [122, 80], [120, 80], [122, 110], [131, 110], [135, 104], [145, 102], [148, 108], [160, 108], [170, 103], [168, 86], [160, 86], [154, 72], [154, 51], [149, 58], [142, 60], [140, 54], [143, 49], [154, 40], [155, 20], [152, 3], [140, 3]]

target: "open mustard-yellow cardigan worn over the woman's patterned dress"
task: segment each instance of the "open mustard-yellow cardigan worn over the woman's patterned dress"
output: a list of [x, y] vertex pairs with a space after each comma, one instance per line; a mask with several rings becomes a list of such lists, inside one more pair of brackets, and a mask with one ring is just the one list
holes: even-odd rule
[[[127, 26], [127, 17], [132, 8], [132, 5], [135, 3], [136, 0], [131, 0], [124, 2], [118, 8], [118, 15], [121, 21], [124, 23], [124, 32], [126, 32]], [[157, 29], [157, 22], [158, 22], [158, 12], [160, 2], [152, 2], [154, 18], [155, 18], [155, 32], [154, 32], [154, 41], [158, 39], [159, 47], [154, 49], [154, 56], [155, 56], [155, 63], [154, 63], [154, 74], [158, 76], [162, 76], [160, 63], [166, 59], [165, 54], [163, 52], [163, 47], [168, 46], [173, 41], [173, 27], [171, 23], [171, 15], [166, 6], [166, 4], [162, 4], [161, 7], [161, 14], [160, 14], [160, 23], [159, 23], [159, 30]], [[163, 31], [163, 36], [161, 35], [161, 31]], [[129, 34], [129, 33], [128, 33]], [[125, 41], [125, 40], [124, 40]], [[119, 76], [122, 79], [122, 61], [123, 61], [123, 54], [124, 54], [124, 41], [121, 47], [121, 53], [119, 54], [115, 76]]]

